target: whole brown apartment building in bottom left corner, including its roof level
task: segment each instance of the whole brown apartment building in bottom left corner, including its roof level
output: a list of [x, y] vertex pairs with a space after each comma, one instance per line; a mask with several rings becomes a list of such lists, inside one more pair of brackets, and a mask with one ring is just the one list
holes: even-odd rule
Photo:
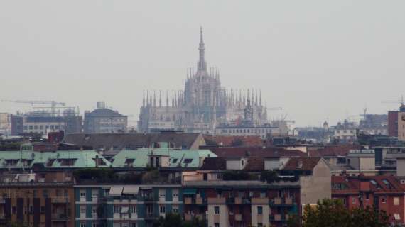
[[75, 226], [73, 182], [63, 172], [2, 175], [0, 226]]

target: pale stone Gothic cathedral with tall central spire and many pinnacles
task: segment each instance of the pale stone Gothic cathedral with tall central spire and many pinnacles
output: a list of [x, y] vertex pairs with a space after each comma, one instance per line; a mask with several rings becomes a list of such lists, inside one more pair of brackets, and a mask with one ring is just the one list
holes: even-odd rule
[[260, 126], [267, 111], [257, 89], [226, 89], [217, 69], [207, 69], [205, 44], [200, 29], [197, 70], [189, 69], [183, 91], [144, 92], [138, 130], [178, 130], [212, 133], [217, 126]]

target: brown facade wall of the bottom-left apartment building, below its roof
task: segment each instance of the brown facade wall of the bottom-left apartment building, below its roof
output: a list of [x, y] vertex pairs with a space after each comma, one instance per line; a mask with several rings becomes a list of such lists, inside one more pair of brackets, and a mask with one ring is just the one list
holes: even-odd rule
[[72, 185], [2, 185], [0, 195], [0, 220], [38, 227], [75, 226]]

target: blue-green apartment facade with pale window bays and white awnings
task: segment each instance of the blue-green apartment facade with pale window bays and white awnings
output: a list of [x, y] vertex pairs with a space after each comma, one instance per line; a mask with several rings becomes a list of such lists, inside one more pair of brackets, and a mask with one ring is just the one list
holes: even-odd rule
[[[137, 187], [138, 194], [113, 196], [112, 187]], [[125, 189], [124, 189], [125, 190]], [[168, 213], [183, 211], [180, 186], [89, 185], [75, 186], [76, 226], [151, 226]]]

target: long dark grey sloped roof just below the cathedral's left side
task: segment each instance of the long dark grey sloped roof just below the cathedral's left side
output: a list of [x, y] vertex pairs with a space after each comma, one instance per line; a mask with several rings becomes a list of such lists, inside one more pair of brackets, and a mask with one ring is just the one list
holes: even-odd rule
[[64, 143], [72, 143], [80, 146], [90, 146], [93, 149], [122, 150], [126, 147], [131, 149], [150, 148], [153, 143], [167, 142], [175, 148], [190, 149], [198, 140], [200, 133], [71, 133], [65, 135]]

